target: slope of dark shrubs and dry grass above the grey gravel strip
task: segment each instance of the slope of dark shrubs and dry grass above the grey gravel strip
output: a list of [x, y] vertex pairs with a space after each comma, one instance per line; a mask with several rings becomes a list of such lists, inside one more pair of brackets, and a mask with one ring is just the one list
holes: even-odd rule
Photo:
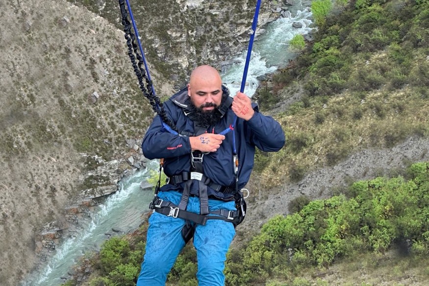
[[260, 92], [266, 109], [302, 98], [278, 114], [286, 147], [260, 154], [267, 186], [299, 181], [357, 150], [428, 135], [428, 5], [380, 0], [332, 8], [314, 45]]

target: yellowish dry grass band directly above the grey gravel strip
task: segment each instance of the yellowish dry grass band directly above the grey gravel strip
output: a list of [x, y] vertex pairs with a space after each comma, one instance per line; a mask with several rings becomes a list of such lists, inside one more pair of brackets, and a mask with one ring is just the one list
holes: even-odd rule
[[326, 103], [299, 108], [293, 115], [278, 115], [286, 141], [301, 134], [305, 143], [289, 141], [280, 152], [270, 154], [272, 160], [262, 172], [267, 187], [290, 180], [296, 168], [331, 166], [358, 150], [392, 147], [413, 134], [428, 136], [428, 110], [429, 103], [417, 88], [404, 88], [377, 90], [363, 99], [346, 92]]

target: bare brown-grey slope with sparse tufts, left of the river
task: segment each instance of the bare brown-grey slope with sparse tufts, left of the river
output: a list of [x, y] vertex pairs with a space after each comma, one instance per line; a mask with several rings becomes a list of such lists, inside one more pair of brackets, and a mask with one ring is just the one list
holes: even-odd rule
[[[117, 159], [115, 175], [99, 177], [116, 191], [126, 160], [139, 156], [127, 139], [143, 136], [152, 113], [132, 98], [123, 32], [105, 19], [63, 0], [1, 1], [0, 13], [0, 284], [15, 286], [92, 189], [85, 149]], [[127, 134], [130, 125], [143, 126]]]

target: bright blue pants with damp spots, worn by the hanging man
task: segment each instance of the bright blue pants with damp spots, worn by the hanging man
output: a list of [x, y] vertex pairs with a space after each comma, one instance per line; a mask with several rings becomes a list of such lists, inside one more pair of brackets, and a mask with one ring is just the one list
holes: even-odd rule
[[[177, 191], [162, 191], [158, 197], [178, 205], [181, 193]], [[234, 202], [223, 202], [209, 199], [209, 210], [235, 211]], [[200, 199], [190, 197], [187, 211], [200, 213]], [[186, 224], [181, 218], [174, 218], [153, 213], [149, 218], [149, 229], [146, 242], [146, 254], [142, 263], [142, 270], [137, 280], [137, 286], [164, 286], [167, 274], [173, 267], [177, 256], [185, 242], [181, 229]], [[226, 254], [235, 229], [232, 223], [209, 219], [207, 223], [197, 225], [194, 234], [194, 247], [197, 250], [199, 286], [224, 286]]]

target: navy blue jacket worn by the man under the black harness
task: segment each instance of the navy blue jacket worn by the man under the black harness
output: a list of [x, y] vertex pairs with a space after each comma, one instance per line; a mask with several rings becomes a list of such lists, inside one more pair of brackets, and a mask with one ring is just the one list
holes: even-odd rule
[[[223, 96], [228, 96], [227, 89], [223, 89]], [[177, 126], [177, 130], [194, 133], [194, 122], [185, 115], [184, 106], [190, 106], [191, 101], [187, 88], [173, 95], [170, 100], [164, 103], [164, 109], [168, 118]], [[225, 114], [214, 126], [214, 133], [218, 134], [233, 123], [234, 112], [230, 106], [225, 107]], [[180, 107], [182, 106], [182, 107]], [[230, 131], [225, 135], [225, 140], [216, 152], [211, 152], [203, 156], [204, 175], [214, 183], [222, 186], [235, 186], [233, 153], [233, 136], [235, 134], [236, 150], [238, 154], [238, 188], [244, 188], [249, 181], [253, 163], [255, 146], [262, 151], [278, 151], [285, 143], [285, 137], [280, 124], [269, 116], [264, 116], [258, 112], [257, 105], [252, 103], [255, 111], [253, 117], [246, 121], [237, 118], [234, 132]], [[209, 127], [207, 132], [212, 132], [213, 127]], [[190, 153], [191, 144], [189, 137], [173, 135], [162, 127], [159, 116], [156, 116], [142, 143], [143, 154], [148, 159], [164, 158], [164, 173], [171, 177], [181, 174], [183, 171], [189, 172], [191, 169]], [[178, 185], [167, 184], [161, 187], [161, 191], [183, 190], [184, 183]], [[193, 182], [191, 194], [198, 195], [198, 182]], [[219, 199], [232, 199], [231, 194], [224, 194], [208, 188], [211, 197]]]

